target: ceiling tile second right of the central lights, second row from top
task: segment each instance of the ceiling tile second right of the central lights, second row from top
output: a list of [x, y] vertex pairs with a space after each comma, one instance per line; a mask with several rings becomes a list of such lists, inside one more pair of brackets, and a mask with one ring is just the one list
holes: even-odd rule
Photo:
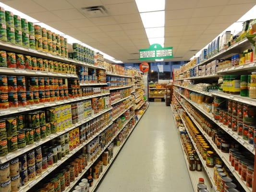
[[208, 16], [217, 16], [219, 12], [223, 9], [223, 6], [216, 7], [201, 7], [194, 9], [192, 17], [208, 17]]

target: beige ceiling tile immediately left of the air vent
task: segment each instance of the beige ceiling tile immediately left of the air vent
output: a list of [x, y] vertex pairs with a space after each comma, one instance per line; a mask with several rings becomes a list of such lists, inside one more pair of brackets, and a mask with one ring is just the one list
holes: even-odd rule
[[72, 19], [83, 19], [85, 16], [78, 12], [76, 9], [65, 9], [54, 11], [54, 14], [59, 16], [63, 20], [72, 20]]

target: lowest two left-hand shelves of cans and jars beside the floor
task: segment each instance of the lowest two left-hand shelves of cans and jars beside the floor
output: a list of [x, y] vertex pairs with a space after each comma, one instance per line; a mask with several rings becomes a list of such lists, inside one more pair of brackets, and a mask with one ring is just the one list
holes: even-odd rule
[[80, 155], [71, 157], [61, 165], [58, 172], [52, 173], [49, 175], [49, 179], [35, 185], [37, 189], [38, 186], [43, 188], [37, 190], [36, 187], [33, 187], [29, 191], [95, 191], [147, 107], [146, 105], [141, 115], [134, 115], [133, 113], [131, 117], [124, 118], [110, 126], [104, 134], [99, 135], [99, 137], [84, 146]]

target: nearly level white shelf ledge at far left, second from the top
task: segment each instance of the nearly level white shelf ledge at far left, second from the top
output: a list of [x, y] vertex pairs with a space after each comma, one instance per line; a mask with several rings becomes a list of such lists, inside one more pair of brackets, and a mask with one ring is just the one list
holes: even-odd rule
[[0, 67], [0, 73], [5, 75], [23, 75], [23, 76], [40, 76], [40, 77], [63, 77], [63, 78], [78, 78], [75, 74], [61, 72], [45, 72], [36, 70], [24, 70]]

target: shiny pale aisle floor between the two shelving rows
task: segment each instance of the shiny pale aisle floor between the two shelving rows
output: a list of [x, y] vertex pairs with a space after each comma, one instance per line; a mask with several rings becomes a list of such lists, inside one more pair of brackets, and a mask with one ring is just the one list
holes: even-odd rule
[[151, 102], [97, 192], [193, 192], [171, 108]]

